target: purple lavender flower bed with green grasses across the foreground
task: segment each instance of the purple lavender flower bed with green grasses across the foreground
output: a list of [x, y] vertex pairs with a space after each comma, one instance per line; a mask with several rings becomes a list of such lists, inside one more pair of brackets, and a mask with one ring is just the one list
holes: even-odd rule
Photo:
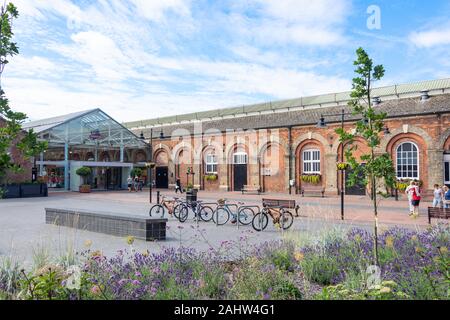
[[[380, 238], [380, 281], [370, 283], [373, 238], [361, 229], [310, 240], [197, 252], [132, 247], [114, 257], [87, 250], [79, 256], [78, 285], [65, 264], [33, 270], [0, 267], [4, 299], [448, 299], [449, 226], [423, 232], [393, 228]], [[127, 239], [129, 245], [133, 241]], [[35, 259], [38, 260], [38, 259]], [[72, 272], [73, 273], [73, 272]]]

